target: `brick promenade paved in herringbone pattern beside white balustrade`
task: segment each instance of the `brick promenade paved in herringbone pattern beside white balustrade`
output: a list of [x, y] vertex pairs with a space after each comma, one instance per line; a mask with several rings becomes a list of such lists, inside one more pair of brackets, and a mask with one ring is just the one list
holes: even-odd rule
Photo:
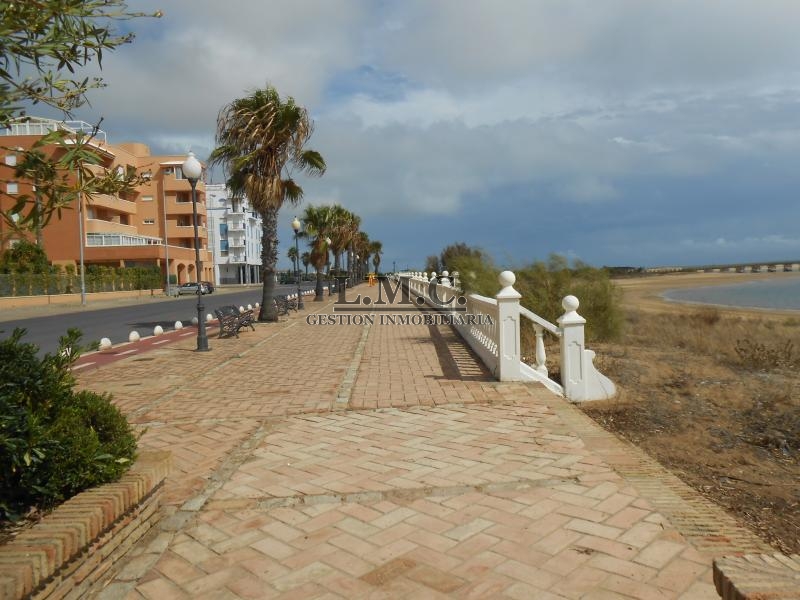
[[101, 598], [717, 598], [713, 556], [769, 550], [448, 328], [306, 307], [79, 372], [173, 454], [161, 528]]

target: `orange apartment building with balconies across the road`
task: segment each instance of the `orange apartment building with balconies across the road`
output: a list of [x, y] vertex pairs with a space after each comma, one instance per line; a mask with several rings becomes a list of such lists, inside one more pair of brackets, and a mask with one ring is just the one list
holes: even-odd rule
[[[0, 130], [0, 206], [13, 206], [18, 194], [30, 194], [32, 182], [16, 180], [18, 151], [26, 150], [49, 132], [61, 129], [77, 135], [92, 127], [80, 121], [31, 118]], [[208, 250], [205, 184], [197, 183], [198, 238], [201, 272], [195, 272], [194, 225], [191, 186], [183, 176], [185, 156], [153, 156], [137, 142], [109, 144], [104, 131], [97, 131], [92, 150], [104, 171], [133, 168], [145, 182], [120, 195], [95, 194], [74, 201], [61, 215], [55, 215], [43, 229], [44, 250], [53, 264], [78, 265], [83, 249], [84, 264], [113, 267], [158, 266], [166, 284], [172, 282], [216, 281], [213, 254]], [[46, 155], [56, 157], [63, 148], [45, 146]], [[74, 175], [70, 174], [70, 177]], [[3, 227], [0, 224], [0, 227]], [[6, 227], [7, 229], [7, 227]], [[82, 235], [81, 235], [82, 234]], [[33, 236], [30, 236], [33, 239]], [[15, 243], [13, 235], [0, 229], [5, 249]]]

